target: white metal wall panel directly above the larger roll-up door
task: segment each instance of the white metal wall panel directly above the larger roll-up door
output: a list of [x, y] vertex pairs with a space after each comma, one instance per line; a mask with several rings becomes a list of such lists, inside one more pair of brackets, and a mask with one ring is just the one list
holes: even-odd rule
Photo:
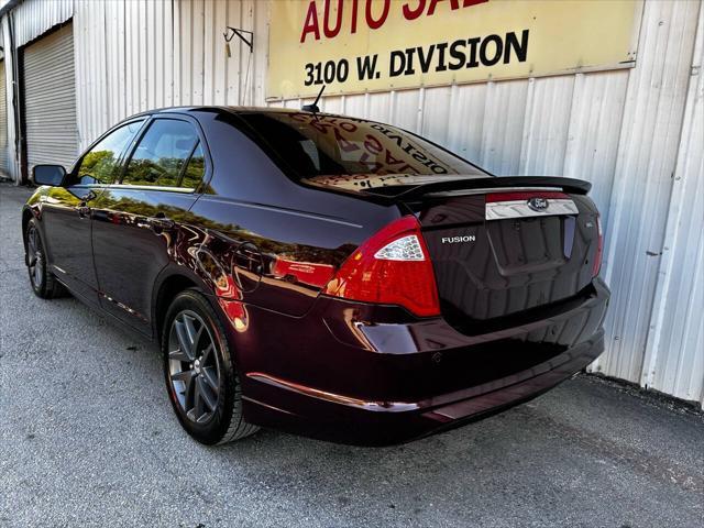
[[18, 47], [74, 15], [74, 0], [29, 0], [13, 9]]

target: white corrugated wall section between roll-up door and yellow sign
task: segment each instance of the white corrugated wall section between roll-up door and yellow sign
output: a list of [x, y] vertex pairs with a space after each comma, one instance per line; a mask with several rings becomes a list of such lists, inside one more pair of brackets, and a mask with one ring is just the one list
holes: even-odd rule
[[[254, 31], [254, 51], [227, 25]], [[133, 113], [178, 105], [263, 105], [268, 2], [77, 1], [80, 144]], [[106, 67], [107, 66], [107, 67]]]

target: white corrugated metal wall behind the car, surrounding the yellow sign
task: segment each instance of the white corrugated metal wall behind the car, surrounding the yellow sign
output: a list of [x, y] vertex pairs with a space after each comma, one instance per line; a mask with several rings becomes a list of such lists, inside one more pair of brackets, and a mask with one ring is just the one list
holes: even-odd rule
[[[264, 105], [268, 53], [285, 53], [267, 50], [268, 3], [77, 0], [81, 146], [148, 108]], [[701, 6], [647, 0], [634, 69], [322, 101], [424, 133], [496, 174], [591, 180], [614, 293], [607, 352], [593, 367], [694, 400], [704, 400]], [[226, 25], [254, 31], [253, 56], [233, 41], [227, 58]]]

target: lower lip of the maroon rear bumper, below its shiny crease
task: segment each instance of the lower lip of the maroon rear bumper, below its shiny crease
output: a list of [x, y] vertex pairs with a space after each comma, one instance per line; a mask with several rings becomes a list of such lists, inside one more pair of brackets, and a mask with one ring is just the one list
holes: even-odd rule
[[261, 377], [260, 382], [288, 393], [286, 407], [301, 414], [245, 398], [249, 410], [256, 416], [254, 421], [261, 425], [341, 443], [388, 446], [459, 427], [539, 396], [584, 369], [603, 350], [600, 333], [529, 372], [419, 402], [364, 402], [327, 392], [320, 395], [312, 387]]

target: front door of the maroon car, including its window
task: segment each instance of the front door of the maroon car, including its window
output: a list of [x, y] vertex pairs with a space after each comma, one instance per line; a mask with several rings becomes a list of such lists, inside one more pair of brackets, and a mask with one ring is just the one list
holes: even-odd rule
[[120, 124], [100, 138], [74, 165], [65, 185], [50, 190], [42, 206], [52, 271], [92, 304], [98, 304], [91, 251], [92, 205], [112, 182], [122, 154], [143, 122]]

